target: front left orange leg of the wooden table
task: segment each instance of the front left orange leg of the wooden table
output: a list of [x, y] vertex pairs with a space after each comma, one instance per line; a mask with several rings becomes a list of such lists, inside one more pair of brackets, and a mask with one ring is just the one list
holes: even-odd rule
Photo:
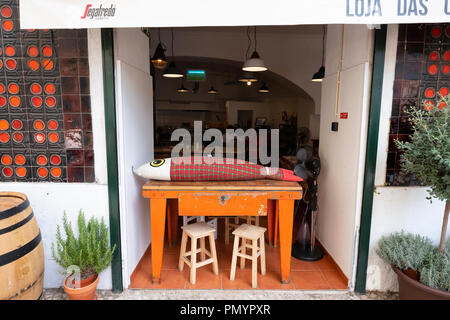
[[166, 199], [150, 199], [150, 231], [152, 241], [152, 283], [160, 283], [164, 249]]

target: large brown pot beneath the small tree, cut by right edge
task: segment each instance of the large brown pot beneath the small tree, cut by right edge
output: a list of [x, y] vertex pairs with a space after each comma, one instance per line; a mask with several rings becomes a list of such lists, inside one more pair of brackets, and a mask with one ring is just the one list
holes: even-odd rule
[[400, 300], [450, 300], [450, 292], [430, 288], [408, 277], [400, 269], [392, 266], [397, 274]]

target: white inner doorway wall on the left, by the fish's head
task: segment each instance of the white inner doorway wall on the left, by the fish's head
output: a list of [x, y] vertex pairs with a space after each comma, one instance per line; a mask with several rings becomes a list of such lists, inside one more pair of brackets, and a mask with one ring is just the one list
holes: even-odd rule
[[132, 166], [153, 160], [153, 85], [148, 38], [140, 29], [114, 30], [123, 282], [150, 244], [150, 203]]

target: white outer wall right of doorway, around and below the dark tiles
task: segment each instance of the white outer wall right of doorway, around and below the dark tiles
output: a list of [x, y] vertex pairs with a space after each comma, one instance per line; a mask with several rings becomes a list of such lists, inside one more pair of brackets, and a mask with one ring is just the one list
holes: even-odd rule
[[[397, 277], [391, 268], [375, 253], [383, 235], [405, 230], [430, 237], [439, 242], [445, 204], [426, 200], [425, 187], [385, 187], [388, 153], [389, 119], [397, 53], [398, 25], [389, 25], [386, 40], [386, 59], [381, 102], [380, 131], [378, 136], [375, 194], [372, 211], [367, 290], [397, 291]], [[450, 230], [447, 232], [450, 237]]]

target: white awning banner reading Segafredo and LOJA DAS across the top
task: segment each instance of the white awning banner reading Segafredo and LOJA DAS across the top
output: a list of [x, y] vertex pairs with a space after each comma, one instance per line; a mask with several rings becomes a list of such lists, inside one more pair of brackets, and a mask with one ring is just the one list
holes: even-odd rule
[[23, 29], [450, 21], [450, 0], [20, 0]]

